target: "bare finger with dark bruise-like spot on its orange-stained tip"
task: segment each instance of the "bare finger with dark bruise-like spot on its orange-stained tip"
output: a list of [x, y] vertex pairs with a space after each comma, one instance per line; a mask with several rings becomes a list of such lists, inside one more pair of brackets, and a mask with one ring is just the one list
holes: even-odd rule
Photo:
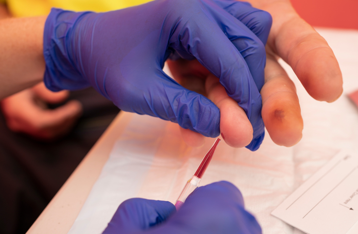
[[267, 56], [261, 90], [262, 118], [273, 142], [292, 146], [302, 138], [303, 119], [296, 88], [275, 58]]

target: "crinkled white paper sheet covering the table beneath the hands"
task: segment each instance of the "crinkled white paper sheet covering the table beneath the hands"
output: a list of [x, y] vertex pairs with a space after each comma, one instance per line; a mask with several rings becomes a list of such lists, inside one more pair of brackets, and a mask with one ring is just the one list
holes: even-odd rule
[[[294, 147], [275, 145], [266, 132], [260, 149], [233, 149], [223, 141], [201, 185], [228, 180], [243, 193], [246, 208], [258, 219], [264, 234], [302, 234], [270, 213], [340, 149], [358, 143], [358, 110], [345, 96], [358, 89], [358, 31], [326, 30], [340, 63], [344, 93], [334, 103], [311, 98], [290, 67], [281, 61], [300, 98], [304, 131]], [[118, 205], [130, 197], [174, 202], [213, 144], [187, 147], [176, 124], [148, 116], [134, 116], [113, 148], [69, 234], [100, 234]]]

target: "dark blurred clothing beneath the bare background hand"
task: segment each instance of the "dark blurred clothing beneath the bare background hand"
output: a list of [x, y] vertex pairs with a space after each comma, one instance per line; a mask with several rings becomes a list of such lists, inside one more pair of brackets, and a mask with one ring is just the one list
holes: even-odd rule
[[44, 142], [8, 129], [0, 113], [0, 234], [25, 234], [119, 109], [93, 88], [74, 91], [83, 115], [65, 137]]

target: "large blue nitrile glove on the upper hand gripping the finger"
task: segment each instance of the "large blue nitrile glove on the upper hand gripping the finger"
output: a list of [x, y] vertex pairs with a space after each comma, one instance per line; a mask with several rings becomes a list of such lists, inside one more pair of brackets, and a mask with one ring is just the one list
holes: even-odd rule
[[171, 55], [196, 58], [220, 78], [247, 113], [254, 130], [247, 147], [256, 150], [264, 124], [255, 81], [263, 83], [264, 77], [254, 81], [242, 54], [256, 58], [253, 63], [261, 64], [263, 72], [265, 47], [234, 17], [241, 8], [230, 2], [156, 0], [107, 13], [52, 9], [44, 30], [45, 84], [53, 91], [92, 85], [124, 111], [171, 120], [217, 137], [220, 112], [215, 104], [162, 71]]

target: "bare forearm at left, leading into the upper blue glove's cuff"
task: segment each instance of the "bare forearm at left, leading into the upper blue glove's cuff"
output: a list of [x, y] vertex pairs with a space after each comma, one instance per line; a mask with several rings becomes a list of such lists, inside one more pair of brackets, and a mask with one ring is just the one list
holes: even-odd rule
[[0, 20], [0, 99], [42, 81], [45, 21], [45, 16]]

